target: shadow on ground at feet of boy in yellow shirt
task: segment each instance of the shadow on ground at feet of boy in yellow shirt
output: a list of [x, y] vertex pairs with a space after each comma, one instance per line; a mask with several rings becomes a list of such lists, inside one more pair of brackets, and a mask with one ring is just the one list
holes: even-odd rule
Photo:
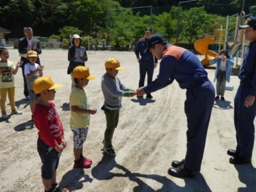
[[92, 182], [93, 178], [84, 174], [84, 169], [82, 168], [73, 168], [69, 170], [62, 176], [60, 181], [60, 186], [63, 188], [67, 188], [69, 191], [75, 191], [78, 189], [82, 189], [84, 186], [84, 182]]

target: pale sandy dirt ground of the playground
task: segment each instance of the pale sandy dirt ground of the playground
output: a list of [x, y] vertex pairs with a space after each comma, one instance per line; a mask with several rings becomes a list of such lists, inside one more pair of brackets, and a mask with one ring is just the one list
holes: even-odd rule
[[[20, 60], [17, 49], [10, 49], [10, 61]], [[91, 52], [92, 53], [92, 52]], [[256, 191], [255, 150], [251, 164], [232, 165], [226, 154], [235, 148], [234, 96], [239, 85], [237, 76], [231, 76], [233, 91], [226, 91], [226, 101], [216, 101], [208, 129], [201, 172], [193, 179], [174, 178], [167, 174], [172, 160], [182, 160], [186, 154], [186, 116], [184, 101], [186, 90], [174, 83], [152, 93], [152, 100], [123, 98], [120, 120], [114, 132], [116, 157], [105, 155], [102, 140], [106, 126], [102, 110], [91, 116], [84, 155], [93, 160], [91, 168], [73, 168], [73, 142], [69, 126], [69, 94], [71, 79], [66, 74], [67, 50], [42, 50], [41, 64], [44, 75], [52, 76], [56, 83], [64, 84], [56, 90], [58, 114], [64, 126], [67, 148], [62, 153], [57, 180], [76, 192], [253, 192]], [[128, 87], [138, 88], [139, 67], [134, 52], [98, 51], [88, 54], [86, 66], [96, 80], [90, 80], [86, 90], [90, 106], [103, 103], [101, 76], [104, 61], [110, 57], [120, 60], [125, 71], [118, 77]], [[202, 59], [202, 56], [200, 56]], [[215, 65], [206, 68], [213, 82]], [[159, 71], [159, 64], [154, 78]], [[22, 72], [15, 75], [17, 109], [22, 115], [9, 120], [0, 118], [0, 191], [43, 192], [41, 161], [36, 150], [37, 128], [30, 122], [29, 101], [24, 99]], [[214, 84], [215, 86], [215, 84]], [[10, 115], [9, 101], [6, 110]]]

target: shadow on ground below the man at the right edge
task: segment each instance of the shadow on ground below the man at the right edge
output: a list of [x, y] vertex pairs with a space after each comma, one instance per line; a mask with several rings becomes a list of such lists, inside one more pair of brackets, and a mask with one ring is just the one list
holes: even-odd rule
[[252, 163], [234, 165], [238, 172], [239, 180], [246, 185], [246, 187], [238, 188], [238, 192], [250, 192], [256, 189], [256, 168], [252, 166]]

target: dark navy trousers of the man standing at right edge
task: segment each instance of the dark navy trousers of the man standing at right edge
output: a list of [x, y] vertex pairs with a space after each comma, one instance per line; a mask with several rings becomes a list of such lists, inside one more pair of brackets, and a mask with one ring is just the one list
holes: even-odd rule
[[244, 106], [244, 101], [250, 93], [250, 87], [240, 85], [234, 99], [234, 124], [236, 129], [236, 152], [244, 158], [252, 158], [254, 146], [254, 118], [256, 116], [256, 101], [250, 107]]

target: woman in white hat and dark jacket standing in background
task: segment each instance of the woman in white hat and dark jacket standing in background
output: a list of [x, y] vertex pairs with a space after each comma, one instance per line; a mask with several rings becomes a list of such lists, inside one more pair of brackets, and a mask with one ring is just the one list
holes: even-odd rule
[[85, 66], [85, 63], [88, 60], [86, 49], [81, 46], [82, 38], [78, 34], [74, 34], [71, 38], [71, 46], [68, 48], [68, 74], [71, 75], [72, 87], [76, 84], [73, 78], [73, 69], [77, 66]]

